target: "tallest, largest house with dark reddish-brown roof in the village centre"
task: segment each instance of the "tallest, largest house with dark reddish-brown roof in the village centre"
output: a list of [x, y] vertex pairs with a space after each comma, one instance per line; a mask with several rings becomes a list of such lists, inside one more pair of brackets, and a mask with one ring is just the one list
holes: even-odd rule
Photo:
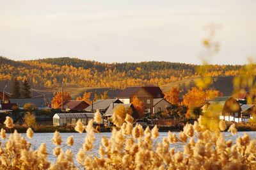
[[146, 86], [146, 87], [128, 87], [119, 93], [116, 98], [121, 100], [124, 104], [131, 104], [133, 97], [138, 97], [139, 100], [144, 102], [145, 112], [153, 113], [153, 99], [163, 98], [163, 92], [159, 87]]

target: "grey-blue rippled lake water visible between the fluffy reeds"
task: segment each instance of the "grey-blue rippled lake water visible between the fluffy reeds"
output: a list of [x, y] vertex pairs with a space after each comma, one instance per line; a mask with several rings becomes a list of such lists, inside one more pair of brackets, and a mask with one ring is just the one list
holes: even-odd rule
[[[236, 135], [232, 136], [230, 134], [230, 132], [223, 132], [223, 134], [225, 135], [225, 139], [227, 140], [232, 140], [235, 141], [237, 136], [239, 135], [243, 135], [245, 132], [237, 132]], [[256, 137], [256, 132], [246, 132], [248, 133], [252, 139], [254, 139]], [[178, 132], [177, 132], [178, 134]], [[26, 134], [21, 134], [22, 136], [26, 136]], [[68, 148], [70, 148], [72, 150], [72, 152], [74, 153], [74, 155], [77, 154], [77, 151], [79, 151], [79, 149], [82, 147], [83, 143], [84, 143], [84, 137], [86, 136], [86, 133], [83, 134], [79, 134], [79, 133], [61, 133], [61, 137], [62, 137], [62, 144], [61, 146], [65, 145], [66, 141], [67, 141], [67, 137], [72, 135], [74, 137], [74, 145], [69, 147], [69, 146], [65, 146], [63, 148], [63, 151], [67, 150]], [[97, 151], [98, 151], [98, 147], [100, 145], [100, 140], [102, 136], [105, 136], [107, 138], [111, 137], [111, 133], [110, 132], [106, 132], [106, 133], [100, 133], [100, 134], [95, 134], [96, 137], [96, 141], [94, 143], [95, 148], [93, 148], [92, 153], [97, 155]], [[168, 135], [168, 132], [159, 132], [159, 137], [156, 139], [157, 141], [161, 141], [163, 139], [163, 137], [166, 137]], [[35, 133], [34, 137], [32, 139], [28, 139], [26, 137], [26, 139], [28, 139], [28, 141], [31, 143], [31, 148], [38, 148], [40, 146], [41, 143], [46, 143], [47, 144], [47, 151], [49, 153], [49, 160], [54, 162], [56, 160], [56, 157], [54, 157], [52, 155], [52, 151], [55, 147], [55, 145], [51, 142], [51, 138], [53, 137], [53, 133]], [[173, 146], [175, 147], [175, 150], [182, 150], [183, 145], [182, 144], [173, 144]], [[173, 147], [171, 146], [171, 147]]]

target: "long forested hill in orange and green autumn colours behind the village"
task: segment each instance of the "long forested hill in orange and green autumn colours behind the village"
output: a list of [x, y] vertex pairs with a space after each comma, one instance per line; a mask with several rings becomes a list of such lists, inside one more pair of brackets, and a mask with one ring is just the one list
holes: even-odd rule
[[[198, 77], [197, 65], [149, 61], [140, 63], [100, 63], [77, 58], [47, 58], [13, 61], [0, 57], [0, 81], [9, 83], [14, 77], [28, 79], [36, 88], [60, 87], [61, 82], [79, 87], [111, 87], [156, 85]], [[239, 65], [212, 65], [207, 75], [237, 75]], [[3, 83], [1, 83], [3, 85]], [[0, 86], [1, 89], [1, 86]]]

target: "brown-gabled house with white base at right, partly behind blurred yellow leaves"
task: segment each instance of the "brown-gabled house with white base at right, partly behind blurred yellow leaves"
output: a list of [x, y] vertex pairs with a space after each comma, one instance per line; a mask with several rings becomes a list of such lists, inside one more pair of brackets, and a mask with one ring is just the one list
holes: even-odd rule
[[209, 105], [203, 112], [218, 112], [220, 119], [241, 122], [241, 104], [234, 97], [216, 97], [208, 100]]

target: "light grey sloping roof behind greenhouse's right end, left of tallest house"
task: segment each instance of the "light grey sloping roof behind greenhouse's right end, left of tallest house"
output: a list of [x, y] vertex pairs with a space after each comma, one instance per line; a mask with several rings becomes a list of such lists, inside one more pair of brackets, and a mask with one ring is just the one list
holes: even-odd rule
[[114, 98], [114, 99], [106, 99], [106, 100], [96, 100], [95, 102], [93, 102], [93, 108], [92, 105], [89, 105], [88, 107], [86, 107], [86, 111], [91, 111], [99, 109], [99, 110], [106, 110], [108, 109], [109, 105], [111, 105], [112, 103], [122, 103], [120, 100]]

